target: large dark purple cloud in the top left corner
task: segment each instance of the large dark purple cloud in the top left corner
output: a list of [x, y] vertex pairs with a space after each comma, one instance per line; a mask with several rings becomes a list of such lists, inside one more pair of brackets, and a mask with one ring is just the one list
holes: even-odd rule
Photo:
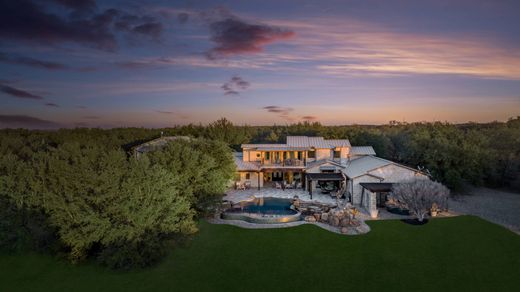
[[[85, 7], [92, 7], [92, 1], [56, 2], [68, 8], [83, 9], [83, 12]], [[113, 25], [116, 21], [122, 21], [126, 27]], [[0, 9], [0, 37], [4, 39], [44, 44], [76, 43], [115, 51], [118, 48], [116, 31], [157, 37], [162, 25], [158, 25], [153, 17], [132, 15], [113, 8], [101, 13], [62, 17], [48, 12], [43, 4], [17, 0], [4, 1]]]

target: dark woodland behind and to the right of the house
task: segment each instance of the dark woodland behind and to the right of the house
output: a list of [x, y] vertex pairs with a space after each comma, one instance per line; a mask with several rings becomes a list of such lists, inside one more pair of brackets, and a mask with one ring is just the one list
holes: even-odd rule
[[188, 125], [163, 129], [225, 141], [236, 150], [241, 143], [285, 143], [289, 135], [348, 138], [352, 145], [373, 146], [377, 155], [429, 172], [451, 189], [463, 184], [520, 190], [520, 117], [493, 123], [401, 123], [381, 126], [324, 126], [298, 123], [234, 126], [226, 119], [206, 127]]

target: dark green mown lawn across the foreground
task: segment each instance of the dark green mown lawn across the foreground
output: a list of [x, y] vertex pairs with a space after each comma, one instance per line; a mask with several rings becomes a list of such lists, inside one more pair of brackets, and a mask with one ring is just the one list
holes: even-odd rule
[[520, 236], [477, 217], [369, 222], [362, 236], [313, 225], [200, 233], [151, 269], [117, 272], [40, 254], [0, 255], [2, 291], [514, 291]]

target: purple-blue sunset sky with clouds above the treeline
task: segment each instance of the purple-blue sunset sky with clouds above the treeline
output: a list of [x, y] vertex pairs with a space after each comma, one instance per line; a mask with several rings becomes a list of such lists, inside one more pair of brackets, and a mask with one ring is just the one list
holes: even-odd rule
[[520, 1], [0, 0], [0, 127], [520, 115]]

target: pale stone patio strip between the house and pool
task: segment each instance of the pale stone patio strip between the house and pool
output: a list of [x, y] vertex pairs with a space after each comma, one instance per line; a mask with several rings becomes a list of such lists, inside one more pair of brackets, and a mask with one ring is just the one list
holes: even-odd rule
[[224, 200], [238, 203], [241, 201], [251, 201], [254, 198], [282, 198], [282, 199], [292, 199], [294, 196], [298, 196], [301, 201], [304, 202], [317, 202], [321, 204], [331, 204], [336, 205], [336, 198], [332, 198], [330, 195], [321, 194], [315, 192], [311, 196], [309, 192], [306, 192], [303, 189], [275, 189], [275, 188], [262, 188], [258, 189], [249, 189], [249, 190], [228, 190], [226, 195], [224, 196]]

